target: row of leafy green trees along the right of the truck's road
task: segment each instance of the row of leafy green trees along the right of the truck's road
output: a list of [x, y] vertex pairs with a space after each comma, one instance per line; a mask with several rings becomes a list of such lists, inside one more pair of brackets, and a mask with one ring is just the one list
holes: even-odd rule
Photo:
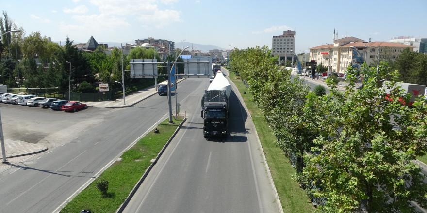
[[[396, 88], [398, 71], [387, 63], [381, 63], [378, 75], [376, 67], [349, 67], [345, 91], [328, 80], [331, 92], [316, 95], [276, 66], [278, 58], [266, 46], [235, 49], [230, 57], [275, 143], [296, 154], [296, 180], [303, 185], [311, 180], [317, 189], [310, 194], [327, 198], [319, 211], [353, 212], [363, 206], [368, 213], [415, 212], [412, 201], [427, 208], [426, 176], [413, 163], [427, 151], [427, 105], [401, 105], [399, 97], [411, 97], [400, 89], [390, 92], [394, 102], [385, 102], [386, 88]], [[370, 76], [363, 89], [355, 87], [357, 72]], [[391, 81], [378, 86], [384, 77]]]

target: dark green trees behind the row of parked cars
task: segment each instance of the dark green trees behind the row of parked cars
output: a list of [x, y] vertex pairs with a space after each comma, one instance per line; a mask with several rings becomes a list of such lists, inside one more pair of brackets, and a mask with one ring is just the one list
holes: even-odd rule
[[[0, 17], [0, 30], [5, 33], [17, 29], [7, 13]], [[68, 37], [64, 46], [50, 42], [40, 32], [32, 32], [24, 37], [25, 30], [6, 33], [0, 40], [0, 84], [8, 88], [46, 88], [57, 87], [56, 92], [68, 91], [71, 76], [71, 88], [74, 92], [95, 92], [96, 83], [108, 83], [110, 88], [120, 87], [115, 81], [122, 81], [121, 50], [114, 48], [105, 53], [104, 46], [98, 46], [93, 52], [79, 51]], [[177, 49], [176, 51], [180, 51]], [[124, 56], [125, 85], [140, 81], [130, 78], [130, 59], [153, 59], [160, 61], [156, 50], [136, 47]], [[166, 61], [175, 61], [167, 56]], [[180, 58], [178, 61], [182, 61]], [[71, 72], [70, 64], [71, 63]], [[179, 71], [183, 69], [179, 66]], [[166, 74], [166, 65], [159, 66], [159, 74]], [[181, 71], [182, 72], [182, 71]]]

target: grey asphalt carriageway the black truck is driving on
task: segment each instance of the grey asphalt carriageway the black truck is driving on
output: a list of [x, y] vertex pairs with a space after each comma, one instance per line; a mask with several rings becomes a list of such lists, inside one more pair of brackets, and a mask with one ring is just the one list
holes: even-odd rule
[[230, 136], [205, 139], [199, 103], [209, 82], [196, 80], [186, 79], [191, 87], [180, 90], [191, 94], [181, 101], [187, 122], [124, 212], [279, 212], [256, 131], [237, 95], [230, 95]]

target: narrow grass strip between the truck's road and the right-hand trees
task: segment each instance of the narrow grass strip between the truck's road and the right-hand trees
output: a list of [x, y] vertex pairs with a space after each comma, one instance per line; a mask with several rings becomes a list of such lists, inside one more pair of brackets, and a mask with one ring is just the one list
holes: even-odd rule
[[[229, 77], [242, 95], [255, 124], [283, 211], [286, 213], [312, 212], [313, 205], [305, 192], [299, 188], [299, 183], [292, 179], [292, 175], [295, 175], [296, 171], [292, 167], [289, 158], [274, 144], [276, 137], [274, 137], [271, 128], [264, 121], [262, 111], [250, 101], [251, 95], [239, 77], [235, 76], [234, 72], [230, 72]], [[246, 91], [246, 94], [243, 94], [244, 91]]]

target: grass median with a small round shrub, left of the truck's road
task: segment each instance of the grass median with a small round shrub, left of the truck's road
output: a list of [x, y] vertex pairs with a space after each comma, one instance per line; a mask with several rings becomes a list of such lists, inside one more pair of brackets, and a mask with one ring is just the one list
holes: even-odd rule
[[[131, 149], [122, 154], [120, 161], [116, 161], [107, 168], [97, 180], [73, 198], [61, 213], [79, 213], [84, 209], [90, 209], [93, 213], [115, 213], [151, 165], [150, 160], [157, 157], [182, 120], [183, 118], [178, 117], [173, 124], [168, 123], [169, 119], [160, 123], [157, 126], [159, 134], [150, 131], [141, 138]], [[99, 180], [109, 182], [106, 194], [98, 190], [96, 183]]]

